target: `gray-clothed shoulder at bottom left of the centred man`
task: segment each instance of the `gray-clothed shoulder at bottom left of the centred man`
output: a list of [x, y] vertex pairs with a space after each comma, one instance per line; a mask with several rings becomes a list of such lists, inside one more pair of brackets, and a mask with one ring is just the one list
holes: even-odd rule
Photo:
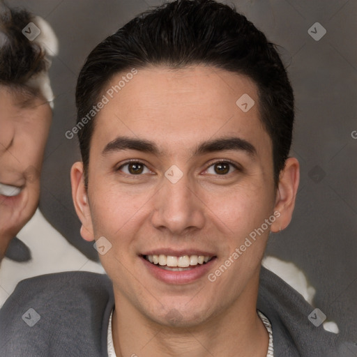
[[0, 310], [1, 356], [101, 356], [114, 306], [107, 275], [22, 280]]

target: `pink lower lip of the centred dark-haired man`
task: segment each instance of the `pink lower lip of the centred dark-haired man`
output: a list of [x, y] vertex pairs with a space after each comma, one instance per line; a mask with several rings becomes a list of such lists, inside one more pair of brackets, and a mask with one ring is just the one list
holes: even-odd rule
[[213, 261], [216, 257], [213, 257], [206, 264], [197, 265], [188, 271], [167, 271], [165, 269], [159, 268], [158, 265], [151, 264], [144, 257], [141, 257], [144, 265], [149, 270], [149, 273], [153, 275], [156, 279], [166, 282], [167, 284], [188, 284], [190, 282], [195, 282], [202, 276], [207, 275], [210, 271]]

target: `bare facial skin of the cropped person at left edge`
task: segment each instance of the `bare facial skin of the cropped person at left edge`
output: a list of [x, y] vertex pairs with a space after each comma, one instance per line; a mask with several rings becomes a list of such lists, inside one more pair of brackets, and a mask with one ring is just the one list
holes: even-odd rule
[[19, 195], [0, 195], [0, 261], [10, 240], [38, 206], [40, 171], [52, 110], [42, 97], [0, 86], [0, 183], [22, 188]]

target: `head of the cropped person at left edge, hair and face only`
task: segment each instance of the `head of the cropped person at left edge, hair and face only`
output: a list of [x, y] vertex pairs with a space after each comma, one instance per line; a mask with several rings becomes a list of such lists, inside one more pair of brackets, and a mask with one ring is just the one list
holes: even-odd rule
[[[36, 31], [33, 22], [45, 26], [47, 36], [24, 36], [22, 29]], [[38, 206], [54, 99], [48, 36], [55, 38], [44, 20], [0, 3], [0, 261]]]

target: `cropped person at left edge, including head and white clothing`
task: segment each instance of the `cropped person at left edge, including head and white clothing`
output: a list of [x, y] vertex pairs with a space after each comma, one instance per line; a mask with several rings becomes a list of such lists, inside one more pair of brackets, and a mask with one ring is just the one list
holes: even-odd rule
[[[88, 261], [38, 210], [54, 107], [49, 68], [57, 52], [45, 20], [0, 2], [0, 306], [20, 280]], [[102, 272], [94, 262], [86, 268]]]

